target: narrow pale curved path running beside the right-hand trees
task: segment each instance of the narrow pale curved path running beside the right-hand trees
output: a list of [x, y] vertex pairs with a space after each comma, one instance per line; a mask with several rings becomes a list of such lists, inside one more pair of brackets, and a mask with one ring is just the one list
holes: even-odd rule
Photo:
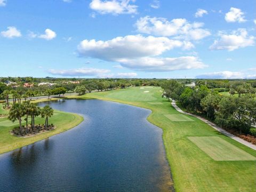
[[227, 132], [226, 130], [223, 130], [222, 128], [220, 128], [220, 127], [217, 126], [216, 124], [210, 122], [209, 120], [207, 120], [207, 119], [205, 119], [205, 118], [203, 118], [203, 117], [201, 117], [201, 116], [194, 115], [194, 114], [190, 114], [190, 113], [187, 113], [187, 112], [181, 110], [181, 108], [179, 108], [179, 107], [176, 105], [176, 102], [175, 102], [174, 100], [172, 100], [172, 106], [173, 106], [177, 111], [179, 111], [180, 113], [186, 114], [186, 115], [191, 115], [191, 116], [193, 116], [193, 117], [196, 117], [196, 118], [200, 119], [201, 121], [207, 123], [207, 124], [210, 125], [211, 127], [213, 127], [213, 129], [215, 129], [215, 130], [221, 132], [222, 134], [225, 134], [225, 135], [227, 135], [228, 137], [230, 137], [230, 138], [236, 140], [237, 142], [242, 143], [243, 145], [245, 145], [245, 146], [247, 146], [247, 147], [250, 147], [251, 149], [256, 150], [256, 145], [253, 145], [253, 144], [250, 143], [250, 142], [247, 142], [247, 141], [245, 141], [245, 140], [243, 140], [243, 139], [241, 139], [241, 138], [239, 138], [239, 137], [236, 137], [235, 135], [233, 135], [233, 134]]

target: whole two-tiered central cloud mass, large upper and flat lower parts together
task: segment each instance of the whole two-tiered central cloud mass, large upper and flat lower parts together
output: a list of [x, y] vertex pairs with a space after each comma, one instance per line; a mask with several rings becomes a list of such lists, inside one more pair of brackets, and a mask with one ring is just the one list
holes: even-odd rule
[[[188, 49], [194, 45], [167, 37], [129, 35], [109, 41], [82, 41], [77, 49], [81, 56], [118, 62], [120, 66], [141, 71], [172, 71], [206, 67], [197, 57], [161, 58], [159, 55], [175, 47]], [[113, 66], [120, 68], [119, 65]]]

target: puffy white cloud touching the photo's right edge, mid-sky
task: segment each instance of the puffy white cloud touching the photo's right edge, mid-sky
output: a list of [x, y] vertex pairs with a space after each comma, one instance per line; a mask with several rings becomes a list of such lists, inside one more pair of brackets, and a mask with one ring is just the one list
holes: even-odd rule
[[211, 50], [234, 51], [238, 48], [253, 46], [255, 43], [255, 37], [249, 36], [246, 29], [237, 29], [230, 35], [220, 31], [219, 36], [220, 38], [215, 40], [214, 43], [210, 46]]

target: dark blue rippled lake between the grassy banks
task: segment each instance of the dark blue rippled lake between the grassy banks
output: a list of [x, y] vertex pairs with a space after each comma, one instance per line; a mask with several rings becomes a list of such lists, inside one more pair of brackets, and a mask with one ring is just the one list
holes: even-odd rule
[[0, 155], [0, 191], [171, 190], [162, 130], [146, 120], [149, 110], [101, 100], [50, 105], [85, 120]]

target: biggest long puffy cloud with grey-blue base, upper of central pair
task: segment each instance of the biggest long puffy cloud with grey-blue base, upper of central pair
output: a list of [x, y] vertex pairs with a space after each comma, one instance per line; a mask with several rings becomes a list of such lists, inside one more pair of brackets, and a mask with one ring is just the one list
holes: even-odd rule
[[[128, 35], [116, 37], [109, 41], [95, 41], [85, 39], [78, 45], [79, 54], [85, 57], [115, 61], [120, 58], [139, 58], [160, 55], [165, 51], [182, 47], [187, 42], [172, 40], [167, 37], [143, 37]], [[190, 45], [191, 46], [191, 45]]]

